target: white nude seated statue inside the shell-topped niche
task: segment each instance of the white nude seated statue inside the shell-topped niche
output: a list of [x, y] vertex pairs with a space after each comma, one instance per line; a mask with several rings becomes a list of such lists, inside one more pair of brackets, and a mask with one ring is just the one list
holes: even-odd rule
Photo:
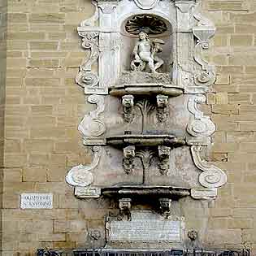
[[152, 73], [158, 73], [156, 70], [163, 65], [163, 59], [160, 59], [156, 54], [163, 49], [164, 41], [161, 39], [154, 39], [150, 41], [147, 33], [139, 33], [139, 40], [134, 46], [132, 54], [134, 59], [131, 63], [133, 71], [144, 71], [146, 65], [150, 67]]

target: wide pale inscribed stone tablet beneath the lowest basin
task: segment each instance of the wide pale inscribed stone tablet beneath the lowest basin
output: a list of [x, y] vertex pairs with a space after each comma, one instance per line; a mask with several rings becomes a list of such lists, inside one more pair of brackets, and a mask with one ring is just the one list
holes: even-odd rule
[[132, 211], [131, 220], [108, 219], [108, 241], [180, 242], [184, 236], [184, 218], [165, 219], [153, 212]]

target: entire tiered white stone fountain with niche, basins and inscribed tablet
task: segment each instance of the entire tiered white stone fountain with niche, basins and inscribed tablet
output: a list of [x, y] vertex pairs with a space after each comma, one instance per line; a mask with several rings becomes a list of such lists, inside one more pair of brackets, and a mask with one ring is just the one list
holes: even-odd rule
[[[215, 68], [202, 58], [215, 27], [197, 1], [93, 5], [93, 17], [78, 28], [90, 55], [76, 76], [96, 105], [78, 127], [93, 160], [72, 167], [67, 183], [78, 198], [119, 201], [120, 215], [106, 218], [107, 246], [184, 247], [185, 230], [204, 229], [193, 227], [189, 207], [212, 202], [227, 181], [203, 159], [215, 124], [198, 107], [215, 82]], [[154, 219], [162, 235], [152, 235], [157, 228], [149, 231], [143, 219]], [[137, 225], [140, 231], [131, 233]]]

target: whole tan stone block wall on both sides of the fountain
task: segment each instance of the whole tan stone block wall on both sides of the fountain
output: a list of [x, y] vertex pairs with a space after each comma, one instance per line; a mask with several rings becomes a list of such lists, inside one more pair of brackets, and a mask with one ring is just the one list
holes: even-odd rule
[[[89, 111], [75, 83], [85, 57], [76, 27], [93, 14], [89, 0], [8, 1], [3, 255], [33, 255], [40, 247], [92, 247], [92, 228], [104, 230], [114, 204], [76, 199], [64, 177], [89, 163], [77, 125]], [[209, 59], [214, 90], [202, 106], [217, 126], [209, 159], [227, 170], [207, 223], [208, 246], [256, 249], [256, 5], [203, 1], [217, 27]], [[1, 152], [1, 150], [0, 150]], [[20, 193], [54, 193], [53, 210], [20, 210]]]

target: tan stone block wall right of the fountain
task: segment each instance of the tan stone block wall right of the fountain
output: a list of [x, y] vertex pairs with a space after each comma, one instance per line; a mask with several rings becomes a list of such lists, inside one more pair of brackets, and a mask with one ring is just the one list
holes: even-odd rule
[[217, 27], [210, 60], [217, 66], [204, 110], [217, 126], [210, 159], [228, 175], [210, 210], [209, 243], [256, 248], [256, 54], [254, 1], [206, 1]]

